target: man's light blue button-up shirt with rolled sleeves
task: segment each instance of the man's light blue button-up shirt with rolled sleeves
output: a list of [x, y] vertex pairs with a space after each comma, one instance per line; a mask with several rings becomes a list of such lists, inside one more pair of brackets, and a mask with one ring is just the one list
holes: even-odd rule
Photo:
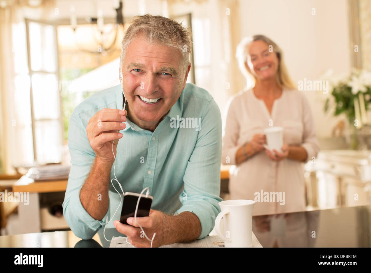
[[[120, 218], [122, 204], [119, 204], [120, 197], [111, 184], [114, 165], [109, 181], [109, 207], [101, 221], [86, 212], [79, 195], [95, 157], [86, 136], [86, 126], [99, 110], [122, 109], [123, 104], [122, 89], [117, 85], [91, 95], [70, 117], [68, 147], [72, 166], [63, 214], [73, 233], [82, 239], [91, 239], [99, 228], [104, 227], [106, 217], [111, 219], [119, 205], [114, 220]], [[218, 203], [222, 201], [219, 197], [221, 116], [213, 97], [194, 84], [186, 84], [153, 133], [129, 119], [125, 124], [126, 128], [120, 131], [124, 136], [117, 145], [115, 167], [124, 192], [140, 193], [148, 187], [153, 196], [152, 209], [170, 214], [191, 211], [201, 222], [198, 239], [208, 235], [220, 212]], [[122, 197], [117, 184], [115, 187]], [[114, 220], [106, 228], [114, 228]]]

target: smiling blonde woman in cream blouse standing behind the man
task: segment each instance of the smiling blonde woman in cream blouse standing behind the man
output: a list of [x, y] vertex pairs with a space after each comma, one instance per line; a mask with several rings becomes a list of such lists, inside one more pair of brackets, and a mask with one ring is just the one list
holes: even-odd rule
[[[237, 58], [255, 85], [234, 95], [227, 106], [222, 163], [236, 165], [230, 170], [230, 199], [255, 200], [253, 215], [303, 211], [303, 163], [319, 150], [309, 104], [290, 80], [282, 51], [269, 38], [243, 39]], [[282, 151], [264, 148], [269, 126], [283, 127]], [[277, 192], [274, 197], [281, 199], [274, 200]]]

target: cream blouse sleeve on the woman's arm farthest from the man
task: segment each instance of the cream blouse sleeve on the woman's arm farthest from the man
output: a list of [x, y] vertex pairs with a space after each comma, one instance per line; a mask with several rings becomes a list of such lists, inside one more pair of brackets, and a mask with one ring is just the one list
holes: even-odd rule
[[303, 109], [303, 141], [301, 146], [306, 150], [307, 157], [305, 162], [312, 160], [317, 156], [319, 151], [319, 143], [316, 136], [316, 128], [312, 116], [312, 110], [308, 101], [302, 97]]

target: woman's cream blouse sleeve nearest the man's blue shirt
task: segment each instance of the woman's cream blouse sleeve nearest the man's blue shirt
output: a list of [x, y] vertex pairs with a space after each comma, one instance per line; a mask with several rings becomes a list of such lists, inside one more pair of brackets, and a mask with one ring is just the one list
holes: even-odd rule
[[240, 148], [237, 145], [240, 126], [236, 117], [236, 109], [233, 107], [233, 98], [227, 103], [225, 125], [223, 129], [223, 150], [221, 153], [221, 163], [225, 165], [236, 165], [236, 153]]

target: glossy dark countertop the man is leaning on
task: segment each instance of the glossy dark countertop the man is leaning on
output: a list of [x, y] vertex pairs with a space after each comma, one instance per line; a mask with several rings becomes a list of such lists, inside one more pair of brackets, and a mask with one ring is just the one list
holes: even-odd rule
[[[263, 247], [370, 247], [371, 205], [253, 217]], [[123, 236], [106, 229], [106, 238]], [[72, 231], [0, 236], [0, 247], [109, 247], [103, 228], [91, 240]]]

